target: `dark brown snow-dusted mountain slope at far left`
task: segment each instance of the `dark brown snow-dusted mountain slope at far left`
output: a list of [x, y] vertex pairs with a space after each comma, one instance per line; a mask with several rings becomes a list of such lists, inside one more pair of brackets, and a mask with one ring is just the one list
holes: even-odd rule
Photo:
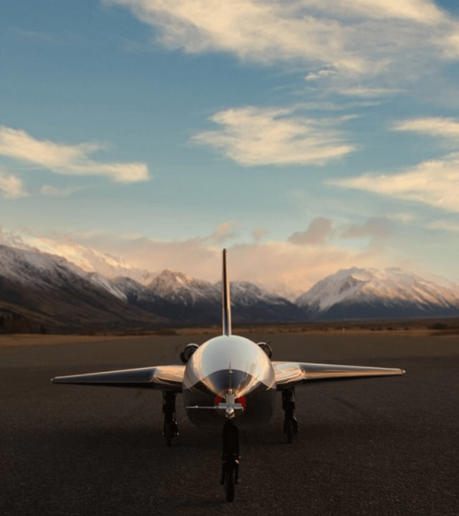
[[0, 245], [0, 327], [18, 326], [14, 321], [24, 331], [166, 322], [129, 305], [124, 292], [97, 273], [60, 256]]

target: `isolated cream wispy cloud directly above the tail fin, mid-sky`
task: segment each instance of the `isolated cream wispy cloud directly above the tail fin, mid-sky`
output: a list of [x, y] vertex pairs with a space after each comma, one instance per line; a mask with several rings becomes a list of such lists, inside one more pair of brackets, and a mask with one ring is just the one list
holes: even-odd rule
[[219, 111], [222, 126], [192, 141], [218, 149], [241, 165], [324, 165], [355, 150], [337, 126], [342, 118], [308, 118], [294, 109], [247, 106]]

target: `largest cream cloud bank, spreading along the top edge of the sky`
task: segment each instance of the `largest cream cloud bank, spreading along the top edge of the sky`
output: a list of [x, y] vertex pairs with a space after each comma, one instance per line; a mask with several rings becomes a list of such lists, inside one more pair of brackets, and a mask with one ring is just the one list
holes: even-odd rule
[[130, 8], [171, 49], [299, 65], [309, 79], [400, 83], [459, 57], [458, 21], [430, 0], [104, 1]]

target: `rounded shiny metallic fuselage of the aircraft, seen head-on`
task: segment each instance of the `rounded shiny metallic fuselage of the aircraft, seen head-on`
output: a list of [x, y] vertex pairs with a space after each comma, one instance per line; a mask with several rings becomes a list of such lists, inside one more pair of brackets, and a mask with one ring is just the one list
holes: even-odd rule
[[[238, 425], [257, 425], [270, 420], [276, 401], [276, 381], [271, 360], [248, 338], [221, 335], [202, 344], [189, 359], [182, 383], [186, 407], [215, 407], [228, 389], [244, 406], [236, 411]], [[197, 425], [221, 427], [220, 410], [186, 408]]]

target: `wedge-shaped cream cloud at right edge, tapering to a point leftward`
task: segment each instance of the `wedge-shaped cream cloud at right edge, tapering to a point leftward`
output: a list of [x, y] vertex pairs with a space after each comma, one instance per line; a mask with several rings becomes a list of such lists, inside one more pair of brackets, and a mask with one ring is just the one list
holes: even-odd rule
[[363, 174], [328, 180], [326, 184], [459, 212], [459, 153], [422, 162], [399, 174]]

